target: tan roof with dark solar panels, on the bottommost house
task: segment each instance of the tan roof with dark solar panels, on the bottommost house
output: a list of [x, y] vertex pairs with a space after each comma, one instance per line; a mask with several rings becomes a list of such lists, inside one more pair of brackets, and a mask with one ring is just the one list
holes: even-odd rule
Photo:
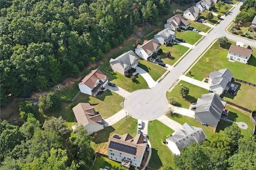
[[137, 157], [143, 157], [146, 145], [143, 133], [137, 134], [135, 137], [132, 137], [129, 133], [123, 135], [113, 134], [108, 140], [108, 149]]

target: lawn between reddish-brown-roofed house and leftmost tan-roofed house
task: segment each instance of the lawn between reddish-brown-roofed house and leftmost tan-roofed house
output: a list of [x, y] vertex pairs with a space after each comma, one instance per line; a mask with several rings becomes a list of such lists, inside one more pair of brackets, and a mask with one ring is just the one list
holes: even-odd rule
[[112, 92], [110, 90], [106, 90], [100, 95], [97, 95], [97, 97], [93, 97], [84, 93], [80, 93], [75, 100], [76, 103], [87, 103], [90, 102], [92, 104], [99, 103], [94, 106], [94, 109], [96, 111], [99, 111], [100, 115], [103, 118], [109, 118], [110, 116], [113, 116], [116, 114], [119, 110], [122, 109], [121, 103], [123, 102], [124, 98], [120, 95], [118, 95], [115, 92]]

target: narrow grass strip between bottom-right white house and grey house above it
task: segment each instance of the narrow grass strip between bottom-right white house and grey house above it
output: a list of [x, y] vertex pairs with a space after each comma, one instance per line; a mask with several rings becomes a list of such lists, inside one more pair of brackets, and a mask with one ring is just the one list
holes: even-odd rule
[[208, 140], [211, 140], [212, 135], [215, 132], [215, 128], [211, 126], [204, 126], [200, 122], [196, 122], [194, 118], [188, 117], [188, 116], [183, 116], [179, 114], [174, 114], [173, 116], [168, 116], [169, 118], [175, 120], [176, 122], [180, 123], [181, 125], [188, 123], [191, 126], [195, 127], [201, 127], [207, 136]]

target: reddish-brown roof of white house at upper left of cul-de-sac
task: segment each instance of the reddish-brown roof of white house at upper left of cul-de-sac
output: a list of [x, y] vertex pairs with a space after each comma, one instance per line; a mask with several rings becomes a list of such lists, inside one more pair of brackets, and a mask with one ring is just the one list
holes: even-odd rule
[[97, 83], [98, 79], [106, 79], [107, 76], [103, 74], [99, 69], [92, 70], [87, 74], [78, 85], [85, 84], [86, 86], [92, 88]]

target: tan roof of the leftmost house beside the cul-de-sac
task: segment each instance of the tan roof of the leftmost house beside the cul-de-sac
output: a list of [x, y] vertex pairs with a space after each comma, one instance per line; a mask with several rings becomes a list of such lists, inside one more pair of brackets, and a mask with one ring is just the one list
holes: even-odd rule
[[77, 123], [86, 126], [88, 124], [98, 124], [102, 117], [94, 110], [90, 103], [78, 103], [73, 108]]

